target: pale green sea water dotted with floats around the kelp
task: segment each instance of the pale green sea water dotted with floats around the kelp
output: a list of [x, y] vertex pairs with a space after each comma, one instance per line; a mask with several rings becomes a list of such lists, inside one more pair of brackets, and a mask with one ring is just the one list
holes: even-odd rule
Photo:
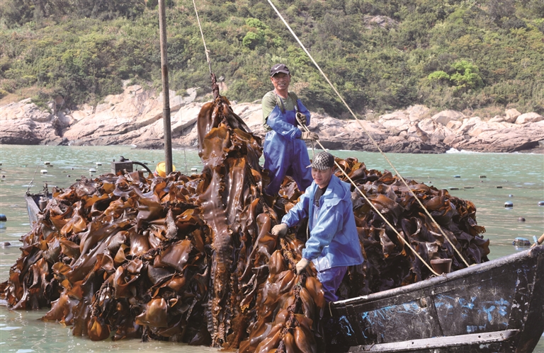
[[[310, 158], [312, 152], [310, 151]], [[380, 154], [354, 151], [333, 151], [339, 157], [356, 157], [367, 168], [392, 170]], [[201, 170], [194, 150], [173, 151], [177, 170], [191, 173]], [[0, 242], [12, 246], [0, 248], [0, 282], [8, 278], [9, 267], [20, 255], [18, 238], [29, 231], [29, 221], [23, 195], [34, 177], [31, 192], [40, 192], [43, 184], [68, 187], [81, 178], [89, 177], [90, 168], [96, 176], [111, 170], [112, 159], [120, 156], [148, 163], [150, 169], [164, 160], [163, 151], [142, 151], [130, 146], [72, 147], [72, 146], [11, 146], [0, 145], [0, 214], [8, 221], [0, 222]], [[533, 243], [533, 236], [544, 233], [544, 156], [539, 154], [470, 154], [440, 155], [387, 154], [404, 178], [426, 185], [446, 188], [452, 195], [474, 202], [478, 224], [485, 226], [485, 237], [491, 241], [491, 259], [516, 252], [512, 240], [524, 237]], [[52, 166], [45, 166], [49, 161]], [[101, 163], [97, 166], [96, 163]], [[47, 173], [40, 173], [47, 170]], [[485, 175], [486, 178], [479, 178]], [[454, 178], [460, 176], [460, 178]], [[466, 188], [465, 188], [466, 187]], [[502, 187], [502, 188], [497, 188]], [[509, 195], [512, 195], [509, 197]], [[504, 202], [514, 207], [504, 208]], [[524, 217], [526, 221], [519, 221]], [[189, 347], [168, 342], [124, 340], [91, 342], [74, 337], [69, 328], [57, 323], [38, 320], [45, 311], [9, 311], [0, 305], [0, 352], [216, 352], [205, 347]], [[544, 320], [544, 318], [543, 318]], [[544, 337], [534, 352], [544, 353]]]

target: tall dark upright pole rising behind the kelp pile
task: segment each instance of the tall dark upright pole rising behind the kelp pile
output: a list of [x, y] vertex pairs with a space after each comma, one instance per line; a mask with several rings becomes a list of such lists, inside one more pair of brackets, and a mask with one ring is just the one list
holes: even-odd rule
[[161, 69], [162, 69], [162, 119], [164, 120], [164, 166], [166, 175], [172, 173], [172, 138], [170, 124], [170, 95], [168, 86], [168, 59], [166, 57], [166, 11], [164, 0], [159, 0], [159, 31], [161, 33]]

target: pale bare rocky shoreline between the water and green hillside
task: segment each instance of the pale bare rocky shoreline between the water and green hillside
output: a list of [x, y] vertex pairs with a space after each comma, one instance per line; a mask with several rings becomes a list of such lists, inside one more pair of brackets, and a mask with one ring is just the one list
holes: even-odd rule
[[[171, 137], [174, 147], [196, 147], [196, 119], [203, 103], [196, 89], [183, 96], [170, 91]], [[138, 149], [162, 149], [162, 95], [141, 86], [125, 86], [124, 92], [107, 96], [103, 103], [79, 110], [62, 108], [62, 98], [42, 110], [30, 98], [0, 107], [0, 144], [106, 146], [134, 145]], [[254, 134], [263, 137], [261, 104], [232, 103]], [[544, 117], [507, 109], [489, 120], [467, 117], [455, 110], [435, 115], [414, 105], [361, 120], [364, 130], [384, 152], [441, 154], [450, 149], [478, 152], [544, 153]], [[339, 120], [312, 113], [310, 131], [319, 134], [327, 149], [378, 151], [356, 120]]]

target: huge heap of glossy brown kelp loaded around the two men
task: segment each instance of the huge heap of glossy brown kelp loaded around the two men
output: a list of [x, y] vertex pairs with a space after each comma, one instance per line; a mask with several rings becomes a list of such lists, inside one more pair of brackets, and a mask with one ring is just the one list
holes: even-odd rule
[[[22, 254], [1, 291], [16, 309], [50, 306], [43, 320], [72, 325], [91, 340], [170, 340], [249, 352], [317, 352], [323, 289], [310, 265], [295, 264], [305, 224], [285, 238], [271, 227], [297, 202], [286, 178], [280, 195], [263, 195], [261, 141], [218, 96], [198, 116], [201, 175], [145, 178], [103, 175], [55, 190], [23, 236]], [[391, 173], [336, 159], [397, 231], [428, 261], [487, 260], [472, 203], [409, 181], [446, 241]], [[341, 176], [340, 174], [338, 174]], [[354, 203], [363, 265], [353, 267], [342, 297], [399, 287], [429, 270], [359, 197]]]

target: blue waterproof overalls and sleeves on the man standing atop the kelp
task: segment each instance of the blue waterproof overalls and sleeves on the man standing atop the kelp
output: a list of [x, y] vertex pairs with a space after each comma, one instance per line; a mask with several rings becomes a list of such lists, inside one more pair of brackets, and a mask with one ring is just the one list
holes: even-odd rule
[[[279, 98], [279, 97], [278, 97]], [[310, 157], [304, 141], [300, 139], [302, 132], [297, 127], [295, 118], [297, 110], [306, 115], [307, 125], [310, 125], [310, 112], [297, 100], [294, 110], [285, 110], [283, 100], [268, 115], [266, 124], [272, 131], [264, 138], [264, 168], [270, 175], [270, 183], [266, 187], [268, 195], [276, 195], [280, 190], [285, 175], [292, 177], [298, 189], [304, 192], [312, 184]]]

